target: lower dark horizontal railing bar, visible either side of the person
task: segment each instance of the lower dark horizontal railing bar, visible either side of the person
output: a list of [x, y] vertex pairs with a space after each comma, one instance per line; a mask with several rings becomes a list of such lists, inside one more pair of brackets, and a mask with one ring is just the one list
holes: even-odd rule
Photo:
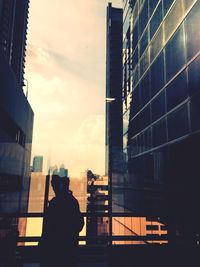
[[[38, 242], [39, 236], [18, 237], [18, 242]], [[79, 241], [104, 240], [104, 241], [165, 241], [168, 235], [146, 235], [146, 236], [79, 236]]]

